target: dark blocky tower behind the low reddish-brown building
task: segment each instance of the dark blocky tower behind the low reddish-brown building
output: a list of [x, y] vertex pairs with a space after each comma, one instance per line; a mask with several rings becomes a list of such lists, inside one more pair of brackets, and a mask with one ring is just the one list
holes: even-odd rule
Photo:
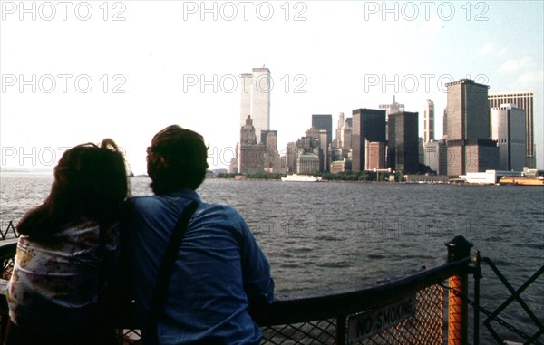
[[385, 110], [353, 110], [351, 137], [352, 171], [364, 171], [365, 140], [385, 142]]

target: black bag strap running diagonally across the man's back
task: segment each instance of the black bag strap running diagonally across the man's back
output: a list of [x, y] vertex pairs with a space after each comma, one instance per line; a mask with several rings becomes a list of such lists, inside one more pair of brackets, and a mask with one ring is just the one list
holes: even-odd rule
[[153, 292], [151, 299], [150, 331], [152, 334], [150, 335], [155, 339], [154, 342], [151, 343], [159, 343], [157, 337], [157, 321], [159, 321], [162, 303], [166, 297], [166, 292], [170, 283], [170, 276], [176, 262], [176, 257], [178, 256], [178, 248], [180, 248], [181, 240], [183, 239], [183, 235], [185, 235], [187, 225], [189, 225], [189, 220], [198, 207], [199, 203], [196, 201], [193, 201], [188, 206], [185, 206], [181, 212], [180, 218], [178, 219], [178, 223], [176, 223], [176, 227], [174, 227], [174, 230], [170, 235], [170, 242], [167, 244], [166, 251], [162, 257], [159, 274], [157, 275], [157, 283], [155, 284], [155, 291]]

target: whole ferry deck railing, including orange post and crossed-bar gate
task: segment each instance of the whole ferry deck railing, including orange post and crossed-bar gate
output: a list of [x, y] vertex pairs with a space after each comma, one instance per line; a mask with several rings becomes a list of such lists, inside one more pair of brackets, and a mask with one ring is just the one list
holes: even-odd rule
[[[8, 231], [15, 231], [12, 227], [8, 225], [5, 231], [0, 231], [3, 238]], [[539, 279], [544, 266], [516, 290], [491, 259], [481, 258], [476, 252], [471, 260], [471, 244], [462, 236], [446, 245], [446, 263], [390, 283], [354, 292], [302, 295], [252, 306], [251, 315], [263, 330], [262, 343], [457, 345], [468, 344], [471, 335], [471, 343], [478, 345], [484, 325], [497, 344], [506, 343], [497, 331], [499, 326], [523, 339], [524, 344], [540, 344], [544, 327], [520, 294]], [[4, 283], [4, 289], [13, 270], [15, 249], [16, 238], [0, 241], [0, 283]], [[510, 292], [510, 297], [495, 311], [488, 311], [480, 304], [481, 263], [488, 264]], [[470, 274], [473, 290], [469, 289]], [[0, 293], [0, 341], [4, 339], [8, 317], [4, 293], [5, 290]], [[520, 304], [537, 331], [528, 334], [500, 317], [512, 302]], [[471, 330], [469, 306], [473, 308]], [[487, 316], [482, 322], [481, 313]], [[134, 311], [127, 310], [123, 315], [119, 320], [119, 343], [140, 343]]]

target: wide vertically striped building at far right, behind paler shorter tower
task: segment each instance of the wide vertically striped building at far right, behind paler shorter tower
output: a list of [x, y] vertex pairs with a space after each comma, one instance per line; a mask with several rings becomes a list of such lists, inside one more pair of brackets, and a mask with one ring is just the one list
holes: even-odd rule
[[502, 104], [511, 104], [513, 107], [525, 110], [525, 150], [526, 166], [537, 168], [534, 119], [533, 119], [533, 92], [493, 93], [489, 95], [490, 109], [500, 108]]

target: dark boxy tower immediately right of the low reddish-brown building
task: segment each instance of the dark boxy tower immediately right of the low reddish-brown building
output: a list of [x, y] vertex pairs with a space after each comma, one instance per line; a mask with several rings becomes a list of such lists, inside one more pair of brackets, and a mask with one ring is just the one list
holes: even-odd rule
[[389, 115], [387, 159], [389, 168], [415, 173], [419, 170], [419, 114], [403, 111]]

